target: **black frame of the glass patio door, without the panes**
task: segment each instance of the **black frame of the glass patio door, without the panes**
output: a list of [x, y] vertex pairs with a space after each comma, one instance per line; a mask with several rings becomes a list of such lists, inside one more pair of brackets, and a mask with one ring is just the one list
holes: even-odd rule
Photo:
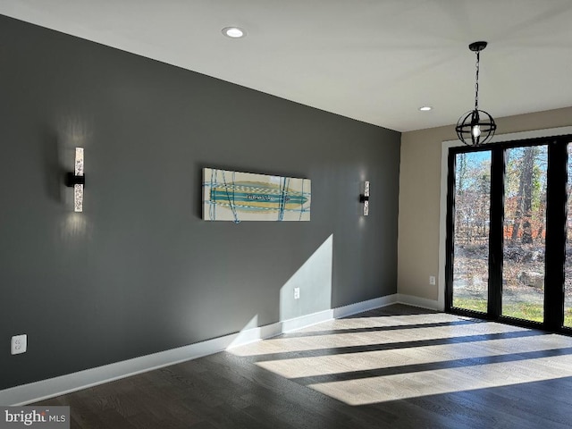
[[[450, 147], [447, 176], [447, 214], [445, 239], [445, 311], [505, 324], [542, 329], [572, 335], [572, 328], [564, 326], [564, 264], [566, 261], [568, 216], [568, 143], [572, 134], [514, 139], [493, 142], [479, 147]], [[548, 147], [544, 321], [542, 323], [501, 315], [503, 227], [504, 227], [504, 174], [505, 151], [514, 147]], [[489, 280], [487, 312], [481, 313], [452, 306], [453, 299], [453, 245], [455, 222], [455, 172], [458, 154], [491, 151], [491, 207], [489, 229]], [[572, 160], [570, 161], [572, 162]]]

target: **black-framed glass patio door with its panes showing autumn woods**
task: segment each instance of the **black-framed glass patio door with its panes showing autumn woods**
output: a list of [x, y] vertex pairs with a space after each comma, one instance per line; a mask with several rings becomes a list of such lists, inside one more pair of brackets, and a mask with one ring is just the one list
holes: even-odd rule
[[570, 141], [450, 149], [447, 310], [572, 328]]

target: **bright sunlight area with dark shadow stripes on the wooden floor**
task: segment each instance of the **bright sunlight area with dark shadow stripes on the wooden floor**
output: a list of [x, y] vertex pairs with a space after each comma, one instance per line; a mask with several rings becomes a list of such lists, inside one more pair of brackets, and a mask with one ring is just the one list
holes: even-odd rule
[[229, 351], [355, 406], [572, 377], [572, 337], [445, 314], [333, 320]]

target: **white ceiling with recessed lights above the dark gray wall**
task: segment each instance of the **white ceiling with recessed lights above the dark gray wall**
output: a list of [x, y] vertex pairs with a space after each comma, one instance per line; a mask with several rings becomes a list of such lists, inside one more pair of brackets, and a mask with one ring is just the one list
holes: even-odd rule
[[[572, 105], [571, 0], [0, 0], [0, 13], [407, 131]], [[240, 26], [242, 39], [221, 29]], [[417, 110], [432, 105], [433, 111]]]

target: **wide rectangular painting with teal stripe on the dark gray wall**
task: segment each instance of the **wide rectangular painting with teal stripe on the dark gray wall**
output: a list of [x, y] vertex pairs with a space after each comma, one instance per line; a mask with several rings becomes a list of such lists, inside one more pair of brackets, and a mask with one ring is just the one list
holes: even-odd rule
[[309, 221], [309, 179], [203, 169], [206, 221]]

